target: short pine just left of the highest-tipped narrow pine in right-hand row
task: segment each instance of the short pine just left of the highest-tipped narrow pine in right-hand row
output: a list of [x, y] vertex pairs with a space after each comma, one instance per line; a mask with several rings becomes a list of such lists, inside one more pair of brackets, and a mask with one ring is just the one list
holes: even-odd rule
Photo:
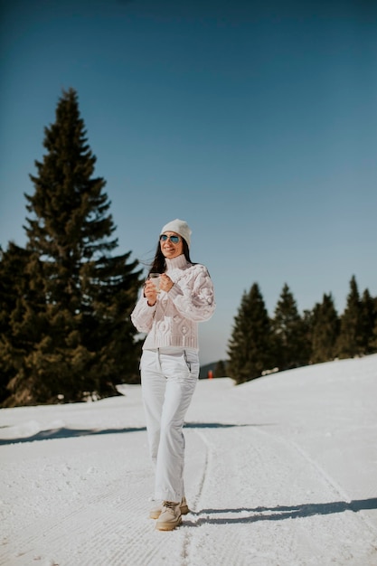
[[339, 316], [331, 293], [325, 295], [322, 303], [314, 308], [312, 330], [311, 363], [333, 360], [336, 355], [336, 342], [339, 335]]

